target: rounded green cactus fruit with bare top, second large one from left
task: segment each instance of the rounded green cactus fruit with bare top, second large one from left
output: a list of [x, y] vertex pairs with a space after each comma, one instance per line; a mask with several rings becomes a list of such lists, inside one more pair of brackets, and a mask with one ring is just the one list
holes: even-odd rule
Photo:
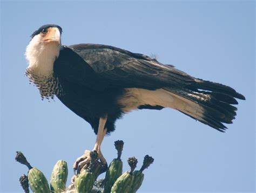
[[53, 192], [60, 193], [66, 189], [68, 178], [68, 165], [65, 161], [59, 160], [52, 169], [50, 188]]

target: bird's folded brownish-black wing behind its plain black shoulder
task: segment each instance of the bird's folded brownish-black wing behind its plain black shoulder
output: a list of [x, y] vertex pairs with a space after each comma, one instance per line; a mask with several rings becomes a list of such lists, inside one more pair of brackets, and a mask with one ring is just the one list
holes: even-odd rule
[[188, 74], [157, 60], [100, 44], [69, 46], [89, 64], [98, 77], [112, 86], [157, 89], [166, 86], [184, 87], [194, 80]]

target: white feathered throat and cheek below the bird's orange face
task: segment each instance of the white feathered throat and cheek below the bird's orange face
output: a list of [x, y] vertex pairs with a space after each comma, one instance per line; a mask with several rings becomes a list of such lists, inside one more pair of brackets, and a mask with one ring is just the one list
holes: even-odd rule
[[50, 77], [53, 74], [53, 63], [59, 56], [58, 42], [42, 42], [36, 35], [26, 47], [25, 57], [29, 61], [28, 70], [38, 77]]

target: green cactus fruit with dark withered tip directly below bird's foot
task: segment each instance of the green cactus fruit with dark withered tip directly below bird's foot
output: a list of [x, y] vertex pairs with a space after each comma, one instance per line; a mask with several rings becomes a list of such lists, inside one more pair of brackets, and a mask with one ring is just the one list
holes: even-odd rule
[[88, 169], [82, 170], [75, 178], [75, 187], [78, 193], [89, 193], [96, 180], [95, 175], [92, 173], [93, 163], [98, 157], [97, 151], [90, 152], [91, 160]]

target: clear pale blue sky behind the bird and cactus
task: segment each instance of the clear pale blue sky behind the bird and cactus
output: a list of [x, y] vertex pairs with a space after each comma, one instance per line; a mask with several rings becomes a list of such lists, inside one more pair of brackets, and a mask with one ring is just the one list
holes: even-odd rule
[[[99, 43], [157, 54], [164, 64], [221, 82], [246, 97], [225, 134], [172, 109], [135, 111], [117, 121], [102, 152], [124, 140], [123, 161], [155, 158], [139, 192], [255, 192], [254, 1], [1, 1], [1, 192], [22, 192], [21, 150], [49, 179], [72, 164], [96, 136], [57, 98], [42, 101], [24, 77], [30, 35], [43, 24], [63, 28], [62, 44]], [[68, 180], [68, 182], [69, 182]]]

